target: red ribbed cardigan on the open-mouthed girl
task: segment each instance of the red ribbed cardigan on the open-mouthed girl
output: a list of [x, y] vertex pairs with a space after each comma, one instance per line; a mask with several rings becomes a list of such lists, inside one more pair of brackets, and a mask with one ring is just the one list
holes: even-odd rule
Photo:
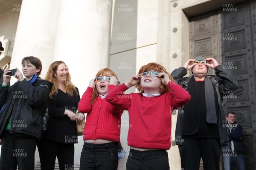
[[[108, 91], [113, 88], [115, 86], [109, 87]], [[93, 88], [88, 87], [78, 104], [78, 110], [81, 113], [88, 113], [84, 127], [84, 140], [105, 139], [120, 142], [123, 111], [101, 97], [98, 97], [91, 107], [92, 95]]]

